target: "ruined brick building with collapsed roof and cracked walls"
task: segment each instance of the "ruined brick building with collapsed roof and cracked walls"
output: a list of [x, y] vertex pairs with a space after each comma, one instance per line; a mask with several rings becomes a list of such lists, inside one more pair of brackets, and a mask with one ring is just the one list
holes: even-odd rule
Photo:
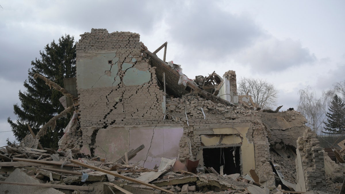
[[256, 110], [250, 96], [238, 96], [235, 71], [191, 80], [165, 54], [156, 56], [167, 43], [152, 53], [137, 33], [80, 36], [75, 124], [60, 150], [115, 162], [144, 145], [129, 162], [154, 169], [162, 158], [197, 161], [215, 174], [248, 174], [265, 191], [277, 181], [290, 191], [326, 190], [326, 154], [305, 117]]

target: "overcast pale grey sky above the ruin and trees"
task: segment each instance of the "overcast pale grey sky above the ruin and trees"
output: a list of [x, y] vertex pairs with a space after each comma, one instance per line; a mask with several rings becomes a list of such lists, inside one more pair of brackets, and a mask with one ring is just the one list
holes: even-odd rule
[[167, 61], [184, 74], [266, 79], [279, 90], [281, 110], [298, 103], [298, 90], [319, 94], [344, 81], [345, 1], [0, 1], [0, 146], [14, 140], [7, 124], [20, 103], [30, 63], [47, 43], [91, 28], [130, 31], [150, 51], [168, 41]]

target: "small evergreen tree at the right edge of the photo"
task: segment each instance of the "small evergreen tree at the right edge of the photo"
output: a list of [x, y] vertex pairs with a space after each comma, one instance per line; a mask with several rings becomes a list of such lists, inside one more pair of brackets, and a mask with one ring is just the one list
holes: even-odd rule
[[324, 122], [328, 132], [341, 134], [345, 132], [345, 104], [338, 95], [334, 95], [331, 105], [326, 113], [327, 122]]

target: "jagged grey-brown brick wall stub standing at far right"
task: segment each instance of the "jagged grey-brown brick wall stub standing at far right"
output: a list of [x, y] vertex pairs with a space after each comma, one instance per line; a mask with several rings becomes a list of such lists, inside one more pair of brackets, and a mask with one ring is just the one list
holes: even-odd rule
[[316, 133], [310, 128], [307, 128], [303, 136], [297, 139], [297, 149], [299, 149], [302, 160], [302, 170], [307, 191], [327, 190], [324, 150], [319, 143]]

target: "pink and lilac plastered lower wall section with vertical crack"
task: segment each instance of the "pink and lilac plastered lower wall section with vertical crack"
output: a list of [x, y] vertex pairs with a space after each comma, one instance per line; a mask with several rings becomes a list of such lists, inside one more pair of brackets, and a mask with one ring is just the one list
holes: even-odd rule
[[99, 129], [95, 142], [95, 155], [115, 161], [126, 151], [144, 144], [130, 162], [152, 169], [159, 166], [161, 157], [176, 159], [183, 128], [167, 126], [111, 127]]

